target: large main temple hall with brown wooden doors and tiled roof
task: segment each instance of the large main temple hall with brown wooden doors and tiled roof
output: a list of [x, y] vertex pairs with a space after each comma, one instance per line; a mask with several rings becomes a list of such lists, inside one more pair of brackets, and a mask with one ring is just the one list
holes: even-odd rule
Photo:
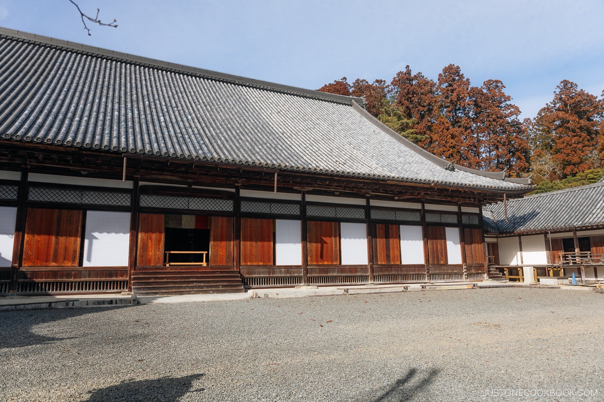
[[481, 206], [364, 100], [0, 28], [0, 294], [487, 277]]

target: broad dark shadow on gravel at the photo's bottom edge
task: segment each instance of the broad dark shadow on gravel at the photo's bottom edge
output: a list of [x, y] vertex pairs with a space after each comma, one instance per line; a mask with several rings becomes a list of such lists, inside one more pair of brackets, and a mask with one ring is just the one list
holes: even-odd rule
[[205, 388], [191, 389], [193, 382], [204, 374], [186, 377], [162, 377], [153, 380], [124, 381], [118, 385], [90, 391], [88, 402], [175, 402], [188, 392], [201, 392]]

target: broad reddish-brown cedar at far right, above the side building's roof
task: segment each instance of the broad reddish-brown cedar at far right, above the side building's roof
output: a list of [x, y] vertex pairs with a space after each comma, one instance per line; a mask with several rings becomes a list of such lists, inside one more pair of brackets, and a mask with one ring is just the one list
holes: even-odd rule
[[551, 153], [562, 175], [573, 176], [602, 162], [603, 102], [572, 81], [562, 80], [556, 89], [535, 118], [532, 142]]

